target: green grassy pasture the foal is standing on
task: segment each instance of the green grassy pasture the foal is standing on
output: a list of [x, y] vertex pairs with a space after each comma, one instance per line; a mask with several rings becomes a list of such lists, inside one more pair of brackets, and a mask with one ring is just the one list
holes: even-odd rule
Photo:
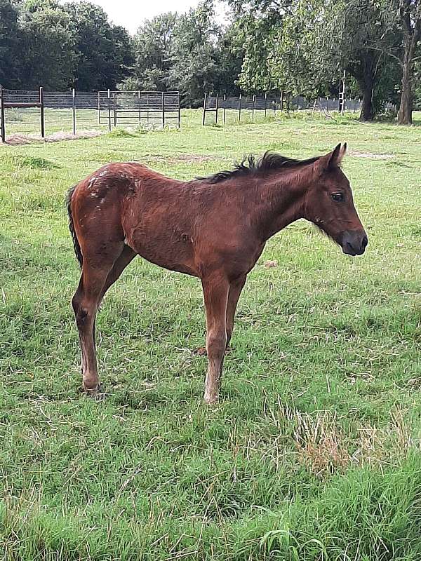
[[[421, 116], [112, 133], [0, 146], [0, 559], [421, 558]], [[202, 403], [199, 280], [136, 259], [98, 317], [107, 396], [80, 393], [65, 192], [110, 161], [189, 179], [272, 149], [344, 162], [369, 236], [300, 221], [239, 302], [222, 399]], [[267, 268], [274, 260], [278, 266]]]

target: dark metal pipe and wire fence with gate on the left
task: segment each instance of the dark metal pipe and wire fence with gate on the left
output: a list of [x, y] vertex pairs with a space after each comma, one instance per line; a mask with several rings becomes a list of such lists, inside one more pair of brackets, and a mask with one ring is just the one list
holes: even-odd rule
[[46, 92], [6, 90], [0, 86], [0, 137], [6, 133], [46, 134], [83, 130], [112, 130], [116, 126], [177, 126], [178, 92], [100, 91]]

